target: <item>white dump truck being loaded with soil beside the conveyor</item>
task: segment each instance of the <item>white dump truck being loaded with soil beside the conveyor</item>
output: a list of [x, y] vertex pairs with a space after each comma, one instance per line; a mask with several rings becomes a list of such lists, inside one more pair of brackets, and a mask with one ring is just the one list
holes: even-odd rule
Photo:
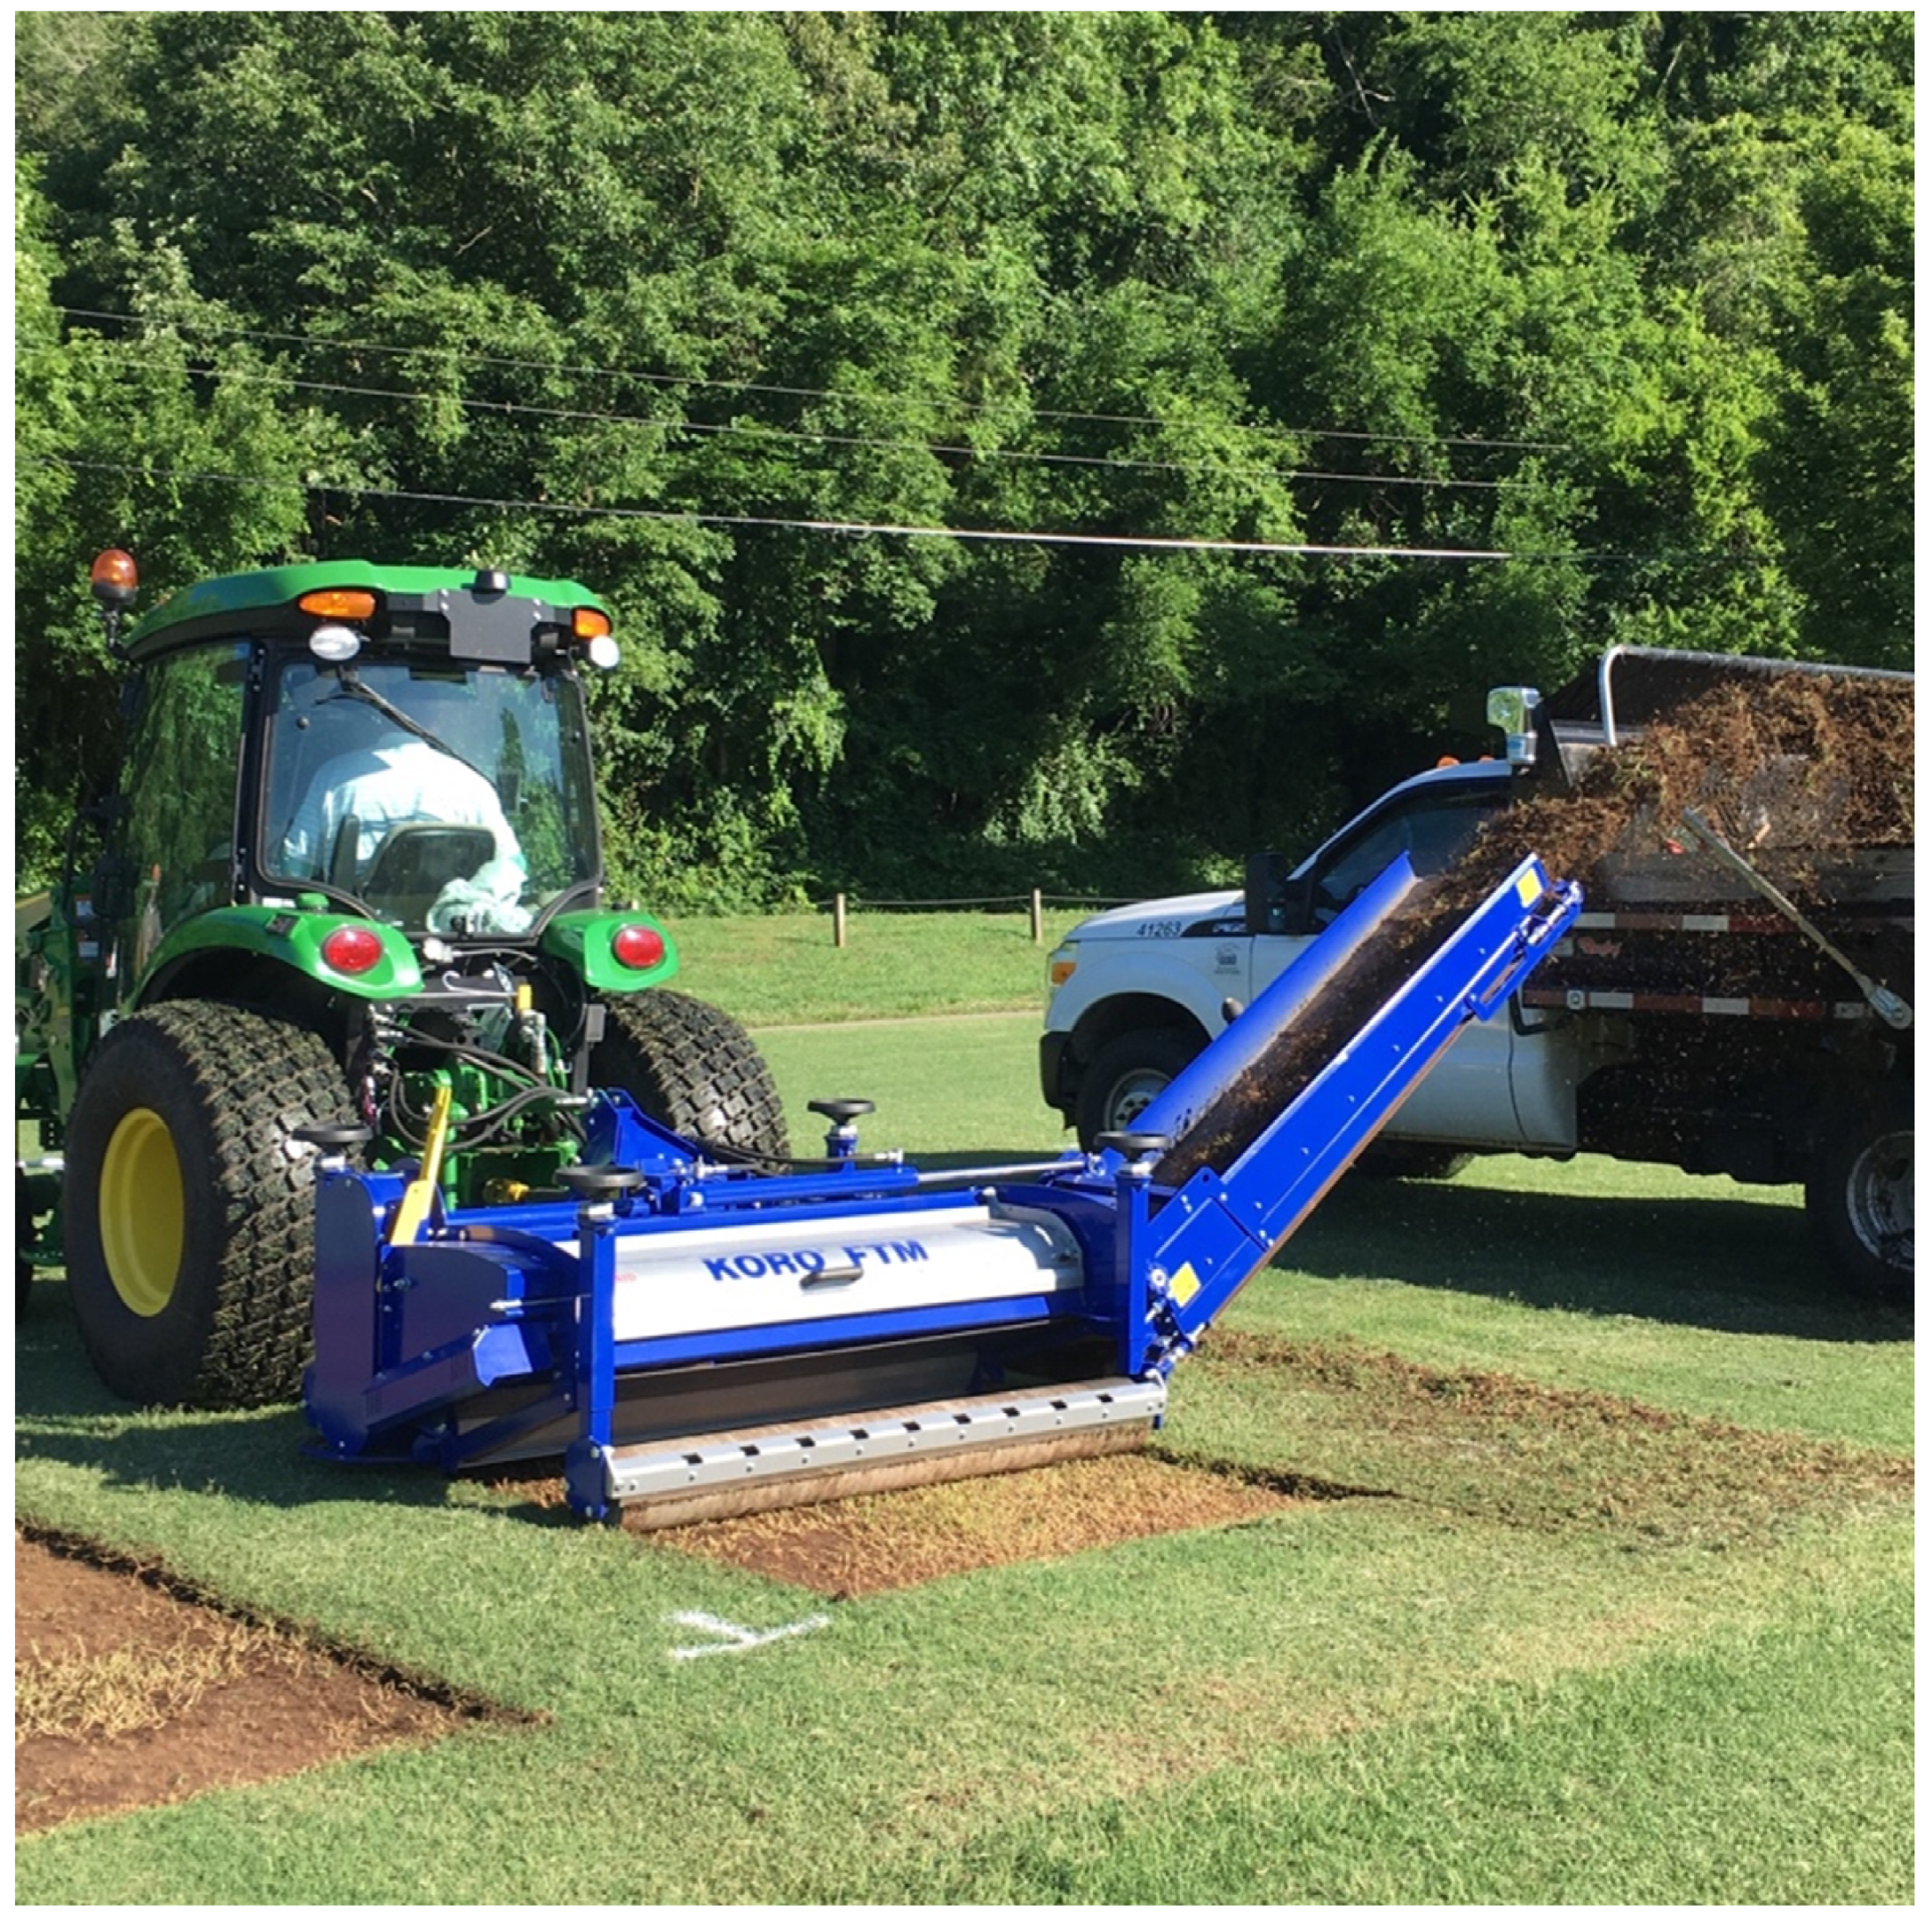
[[[1049, 960], [1045, 1101], [1082, 1142], [1128, 1128], [1393, 854], [1420, 875], [1451, 869], [1497, 811], [1582, 796], [1592, 759], [1640, 744], [1646, 724], [1721, 682], [1785, 676], [1826, 678], [1828, 707], [1891, 684], [1878, 694], [1909, 715], [1901, 672], [1613, 649], [1548, 701], [1492, 692], [1501, 759], [1397, 784], [1300, 864], [1254, 856], [1244, 891], [1082, 921]], [[1824, 806], [1803, 771], [1770, 771], [1762, 786], [1777, 806], [1806, 794]], [[1909, 1302], [1913, 850], [1797, 846], [1789, 821], [1766, 836], [1774, 802], [1756, 842], [1748, 821], [1725, 835], [1685, 809], [1640, 821], [1578, 869], [1584, 910], [1569, 939], [1507, 1008], [1463, 1032], [1364, 1161], [1439, 1176], [1480, 1151], [1602, 1151], [1804, 1184], [1841, 1273]]]

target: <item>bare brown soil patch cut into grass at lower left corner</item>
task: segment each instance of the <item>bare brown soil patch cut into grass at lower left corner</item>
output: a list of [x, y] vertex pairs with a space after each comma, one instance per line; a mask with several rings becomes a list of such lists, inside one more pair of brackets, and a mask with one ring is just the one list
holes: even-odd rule
[[14, 1831], [259, 1785], [500, 1715], [14, 1532]]

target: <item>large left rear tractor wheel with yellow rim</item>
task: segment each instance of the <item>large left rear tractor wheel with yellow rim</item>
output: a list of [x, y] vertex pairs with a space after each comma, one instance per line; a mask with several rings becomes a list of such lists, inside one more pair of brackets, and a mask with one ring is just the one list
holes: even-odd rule
[[102, 1383], [232, 1408], [301, 1391], [315, 1279], [313, 1151], [342, 1115], [313, 1032], [224, 1003], [116, 1024], [68, 1122], [68, 1289]]

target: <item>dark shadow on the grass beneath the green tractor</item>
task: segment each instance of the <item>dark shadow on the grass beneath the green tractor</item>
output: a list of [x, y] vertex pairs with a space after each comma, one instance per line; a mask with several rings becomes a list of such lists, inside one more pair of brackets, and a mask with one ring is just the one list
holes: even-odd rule
[[[35, 1285], [27, 1314], [14, 1325], [15, 1466], [68, 1464], [110, 1487], [207, 1491], [249, 1505], [292, 1511], [301, 1505], [384, 1503], [417, 1509], [448, 1505], [452, 1480], [415, 1464], [334, 1464], [299, 1406], [242, 1412], [137, 1410], [95, 1377], [81, 1348], [66, 1287]], [[15, 1476], [15, 1487], [19, 1480]], [[17, 1497], [15, 1511], [33, 1511]], [[535, 1524], [576, 1524], [572, 1513], [514, 1507]]]

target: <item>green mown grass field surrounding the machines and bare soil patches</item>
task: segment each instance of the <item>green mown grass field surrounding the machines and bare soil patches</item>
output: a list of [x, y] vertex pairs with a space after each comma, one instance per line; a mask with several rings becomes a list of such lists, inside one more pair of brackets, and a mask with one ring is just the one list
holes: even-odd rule
[[[945, 921], [895, 920], [881, 1010], [1037, 1008], [1024, 920], [999, 970]], [[680, 931], [800, 1144], [866, 1095], [873, 1147], [1061, 1146], [1037, 1014], [794, 1028], [852, 1014], [866, 929], [819, 935]], [[317, 1464], [294, 1410], [129, 1412], [58, 1285], [15, 1370], [21, 1516], [547, 1714], [21, 1839], [19, 1903], [1913, 1897], [1911, 1319], [1830, 1287], [1787, 1192], [1349, 1178], [1159, 1443], [1318, 1501], [862, 1600]], [[690, 1613], [810, 1629], [678, 1657]]]

